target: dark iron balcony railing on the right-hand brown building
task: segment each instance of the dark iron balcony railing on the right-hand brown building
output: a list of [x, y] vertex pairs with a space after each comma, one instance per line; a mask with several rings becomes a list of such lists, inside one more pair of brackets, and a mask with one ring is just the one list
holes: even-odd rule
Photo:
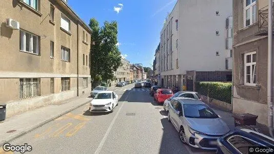
[[[272, 9], [272, 18], [273, 18], [273, 9]], [[273, 25], [273, 22], [272, 22], [272, 25]], [[268, 31], [268, 6], [265, 6], [259, 10], [259, 31], [260, 32]]]

